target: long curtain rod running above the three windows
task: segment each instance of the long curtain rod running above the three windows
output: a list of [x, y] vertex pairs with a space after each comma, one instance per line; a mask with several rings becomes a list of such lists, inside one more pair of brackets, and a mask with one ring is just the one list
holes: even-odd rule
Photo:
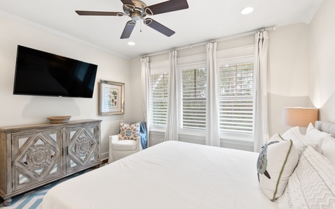
[[[214, 41], [220, 42], [220, 41], [223, 41], [223, 40], [230, 40], [232, 38], [238, 38], [238, 37], [242, 37], [242, 36], [248, 36], [248, 35], [256, 33], [258, 31], [274, 31], [274, 30], [276, 30], [276, 26], [269, 26], [269, 27], [266, 27], [266, 28], [263, 28], [263, 29], [257, 29], [257, 30], [254, 30], [254, 31], [247, 31], [247, 32], [244, 32], [244, 33], [237, 33], [237, 34], [234, 34], [234, 35], [231, 35], [231, 36], [225, 36], [225, 37], [222, 37], [222, 38], [217, 38]], [[204, 42], [198, 42], [198, 43], [195, 43], [195, 44], [192, 44], [192, 45], [184, 45], [182, 47], [177, 47], [177, 48], [174, 48], [174, 49], [175, 50], [187, 49], [187, 48], [191, 48], [192, 49], [192, 47], [198, 47], [200, 45], [205, 45], [209, 41], [210, 40], [204, 41]], [[144, 56], [154, 56], [154, 55], [158, 55], [158, 54], [167, 53], [167, 52], [170, 52], [170, 51], [171, 51], [171, 49], [160, 51], [160, 52], [154, 52], [154, 53], [151, 53], [151, 54], [144, 54], [144, 55], [138, 56], [138, 58], [141, 58], [141, 57], [144, 57]]]

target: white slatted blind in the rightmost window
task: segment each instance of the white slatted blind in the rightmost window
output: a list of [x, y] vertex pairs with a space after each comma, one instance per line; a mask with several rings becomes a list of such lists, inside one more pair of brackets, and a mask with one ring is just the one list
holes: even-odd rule
[[253, 132], [253, 63], [219, 68], [220, 130]]

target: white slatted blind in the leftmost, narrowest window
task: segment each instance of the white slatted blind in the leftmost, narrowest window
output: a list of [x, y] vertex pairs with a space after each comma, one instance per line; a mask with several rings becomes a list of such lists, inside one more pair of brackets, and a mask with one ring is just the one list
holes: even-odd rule
[[166, 125], [169, 74], [167, 72], [161, 72], [151, 74], [150, 77], [151, 124]]

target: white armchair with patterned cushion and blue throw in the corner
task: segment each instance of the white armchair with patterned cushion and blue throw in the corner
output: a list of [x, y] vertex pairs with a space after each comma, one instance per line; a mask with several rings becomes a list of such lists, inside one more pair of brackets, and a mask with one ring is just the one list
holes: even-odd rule
[[146, 123], [120, 123], [119, 134], [110, 136], [109, 142], [108, 163], [147, 148]]

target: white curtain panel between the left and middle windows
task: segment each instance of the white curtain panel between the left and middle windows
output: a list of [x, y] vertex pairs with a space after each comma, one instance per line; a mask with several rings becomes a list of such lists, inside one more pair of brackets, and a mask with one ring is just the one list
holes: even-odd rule
[[177, 50], [169, 52], [168, 114], [164, 141], [178, 141]]

